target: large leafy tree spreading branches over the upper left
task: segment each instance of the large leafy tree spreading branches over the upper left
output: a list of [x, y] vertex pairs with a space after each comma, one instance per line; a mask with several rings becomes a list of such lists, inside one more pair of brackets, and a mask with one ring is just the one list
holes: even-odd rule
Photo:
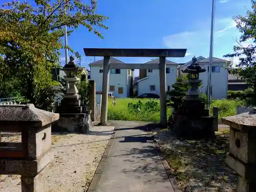
[[[44, 100], [38, 98], [38, 93], [48, 90], [53, 94], [51, 69], [59, 64], [59, 51], [65, 48], [63, 26], [67, 25], [68, 35], [84, 26], [104, 38], [97, 29], [108, 29], [103, 25], [108, 17], [96, 14], [95, 0], [90, 5], [81, 0], [34, 2], [36, 7], [27, 1], [12, 1], [0, 10], [0, 83], [17, 77], [22, 95], [37, 103]], [[70, 47], [67, 49], [80, 57]]]

